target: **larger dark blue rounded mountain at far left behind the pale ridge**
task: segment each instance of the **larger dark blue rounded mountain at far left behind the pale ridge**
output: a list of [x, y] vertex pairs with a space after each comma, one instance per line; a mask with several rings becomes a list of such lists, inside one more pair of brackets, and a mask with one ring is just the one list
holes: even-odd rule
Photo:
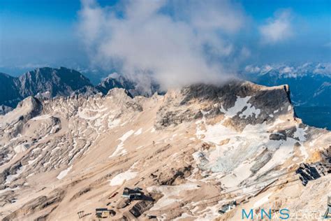
[[88, 78], [72, 69], [41, 68], [13, 78], [0, 73], [0, 104], [15, 108], [19, 101], [29, 96], [68, 96], [73, 92], [96, 94]]

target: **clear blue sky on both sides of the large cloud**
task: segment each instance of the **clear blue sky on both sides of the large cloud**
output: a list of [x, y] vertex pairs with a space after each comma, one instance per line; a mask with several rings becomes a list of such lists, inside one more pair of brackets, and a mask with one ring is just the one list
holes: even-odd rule
[[[178, 2], [170, 1], [169, 4], [174, 6], [175, 10], [186, 10], [185, 4]], [[190, 1], [187, 2], [193, 5]], [[237, 24], [233, 24], [234, 27], [214, 30], [219, 33], [219, 38], [223, 42], [234, 48], [230, 55], [216, 56], [216, 60], [233, 62], [239, 66], [330, 62], [331, 1], [228, 2], [230, 3], [226, 3], [226, 7], [231, 7], [234, 13], [242, 16], [242, 20], [239, 21], [241, 24], [238, 27], [235, 27]], [[123, 3], [97, 1], [96, 4], [105, 14], [111, 10], [120, 12], [121, 7], [117, 9], [116, 6]], [[95, 8], [96, 6], [88, 7]], [[82, 37], [80, 29], [84, 21], [82, 21], [82, 15], [78, 14], [81, 10], [81, 2], [75, 0], [0, 0], [0, 71], [12, 71], [13, 74], [17, 74], [33, 69], [35, 66], [85, 68], [91, 66], [91, 63], [94, 67], [101, 64], [91, 59], [96, 55], [91, 55], [90, 52], [91, 45], [97, 45], [100, 48], [101, 43], [96, 41], [89, 45], [84, 43], [86, 36]], [[163, 10], [168, 10], [168, 7], [163, 6]], [[103, 16], [107, 17], [107, 14]], [[175, 19], [175, 15], [172, 16]], [[192, 20], [195, 19], [202, 24], [203, 18], [200, 19], [198, 16], [192, 18]], [[278, 24], [277, 21], [280, 22], [280, 26], [274, 27], [279, 27], [280, 31], [283, 30], [282, 34], [275, 33], [272, 27], [273, 22], [275, 25]], [[191, 23], [188, 24], [191, 25]], [[103, 25], [108, 27], [107, 24]], [[121, 25], [124, 24], [121, 23]], [[92, 50], [99, 50], [99, 48], [92, 48]], [[157, 49], [153, 51], [157, 52]], [[240, 57], [239, 51], [247, 56]], [[98, 56], [103, 54], [98, 53]], [[107, 62], [112, 63], [110, 60], [116, 56], [122, 56], [121, 58], [127, 60], [129, 55], [124, 55], [122, 51], [117, 52], [116, 55], [112, 53]], [[112, 67], [103, 66], [103, 68], [111, 69]]]

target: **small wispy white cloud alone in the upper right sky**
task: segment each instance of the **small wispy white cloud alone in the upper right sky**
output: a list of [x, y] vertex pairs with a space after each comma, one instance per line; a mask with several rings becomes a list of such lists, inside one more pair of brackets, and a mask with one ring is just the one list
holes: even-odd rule
[[277, 43], [293, 35], [290, 10], [283, 10], [260, 27], [263, 43]]

